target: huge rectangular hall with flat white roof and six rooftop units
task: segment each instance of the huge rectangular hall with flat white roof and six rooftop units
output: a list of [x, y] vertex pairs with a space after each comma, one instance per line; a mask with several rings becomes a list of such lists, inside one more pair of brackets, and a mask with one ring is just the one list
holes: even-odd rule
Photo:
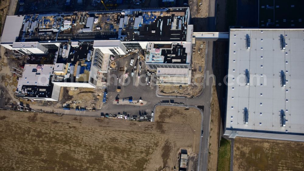
[[225, 135], [304, 141], [304, 29], [231, 29]]

